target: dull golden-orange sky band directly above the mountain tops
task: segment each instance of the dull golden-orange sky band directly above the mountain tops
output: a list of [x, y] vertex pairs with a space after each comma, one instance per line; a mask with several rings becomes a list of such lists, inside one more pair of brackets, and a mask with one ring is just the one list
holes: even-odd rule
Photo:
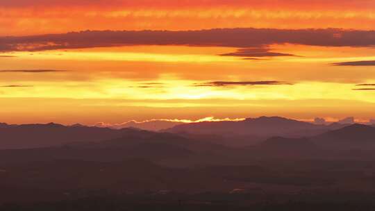
[[[258, 116], [283, 116], [293, 119], [312, 119], [325, 117], [329, 119], [342, 119], [353, 116], [356, 119], [371, 119], [374, 111], [374, 103], [364, 103], [351, 100], [298, 100], [298, 101], [233, 101], [233, 100], [201, 100], [195, 102], [194, 107], [142, 107], [132, 105], [129, 100], [119, 99], [29, 99], [29, 98], [0, 98], [1, 121], [9, 124], [28, 124], [33, 122], [61, 124], [87, 124], [97, 122], [116, 124], [135, 119], [202, 119], [208, 115], [217, 119], [244, 118]], [[186, 100], [164, 101], [164, 103], [189, 103]], [[101, 103], [100, 106], [98, 106]], [[162, 101], [139, 101], [139, 104], [163, 103]], [[200, 107], [201, 103], [213, 103], [215, 105]], [[222, 105], [231, 105], [226, 107]], [[97, 104], [97, 105], [94, 105]], [[25, 106], [27, 105], [27, 106]], [[292, 108], [292, 110], [290, 109]], [[360, 108], [360, 110], [353, 110]], [[30, 111], [33, 112], [30, 112]], [[309, 111], [309, 112], [306, 112]], [[9, 115], [12, 113], [12, 115]], [[105, 115], [103, 115], [105, 114]], [[362, 121], [361, 120], [361, 121]]]

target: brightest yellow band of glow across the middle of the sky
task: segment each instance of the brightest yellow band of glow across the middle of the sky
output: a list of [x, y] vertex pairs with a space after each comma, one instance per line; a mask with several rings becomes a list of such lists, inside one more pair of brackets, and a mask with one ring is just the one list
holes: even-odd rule
[[[232, 99], [243, 100], [301, 100], [301, 99], [351, 99], [375, 103], [374, 92], [358, 92], [350, 83], [303, 82], [294, 85], [247, 85], [238, 87], [195, 87], [197, 81], [165, 80], [152, 83], [163, 83], [163, 86], [144, 85], [149, 81], [123, 81], [112, 79], [107, 81], [91, 81], [85, 83], [39, 83], [34, 87], [2, 87], [2, 97], [55, 98], [59, 93], [65, 99], [133, 99], [133, 100], [169, 100], [169, 99]], [[206, 83], [202, 81], [201, 83]], [[6, 84], [0, 83], [0, 86]], [[314, 90], [314, 92], [311, 92]], [[206, 106], [205, 103], [169, 104], [169, 103], [128, 103], [146, 107], [190, 107]], [[208, 106], [215, 105], [210, 103]], [[227, 106], [217, 103], [216, 105]], [[235, 106], [232, 103], [228, 106]]]

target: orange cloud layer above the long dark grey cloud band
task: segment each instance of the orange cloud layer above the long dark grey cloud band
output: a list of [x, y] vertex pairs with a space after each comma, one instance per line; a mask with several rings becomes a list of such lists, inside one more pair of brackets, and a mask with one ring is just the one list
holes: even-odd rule
[[[1, 1], [0, 35], [92, 30], [360, 28], [374, 1]], [[126, 24], [124, 24], [126, 23]], [[181, 24], [183, 23], [183, 24]], [[58, 27], [56, 27], [58, 26]]]

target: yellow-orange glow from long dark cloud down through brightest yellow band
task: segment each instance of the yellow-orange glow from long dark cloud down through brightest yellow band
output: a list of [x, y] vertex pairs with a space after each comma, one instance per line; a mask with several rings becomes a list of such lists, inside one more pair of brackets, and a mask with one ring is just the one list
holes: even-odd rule
[[[301, 57], [243, 60], [235, 56], [218, 56], [234, 52], [235, 48], [176, 46], [3, 53], [1, 55], [15, 56], [0, 58], [4, 61], [4, 69], [24, 69], [29, 66], [28, 62], [33, 62], [30, 66], [38, 67], [36, 69], [63, 68], [70, 71], [38, 75], [30, 72], [1, 73], [1, 85], [10, 85], [9, 81], [14, 81], [33, 86], [1, 89], [1, 96], [53, 98], [58, 93], [58, 96], [69, 99], [299, 100], [350, 97], [358, 101], [375, 101], [372, 92], [352, 90], [353, 83], [371, 81], [375, 77], [371, 69], [367, 68], [365, 74], [361, 67], [342, 71], [345, 67], [331, 65], [346, 60], [375, 60], [374, 56], [367, 56], [375, 53], [374, 49], [291, 44], [272, 45], [270, 48]], [[45, 64], [53, 65], [43, 66]], [[126, 66], [129, 64], [132, 66]], [[140, 78], [131, 78], [136, 74]], [[285, 81], [294, 85], [197, 86], [212, 81]], [[151, 103], [147, 106], [162, 105]], [[172, 105], [163, 105], [166, 106]]]

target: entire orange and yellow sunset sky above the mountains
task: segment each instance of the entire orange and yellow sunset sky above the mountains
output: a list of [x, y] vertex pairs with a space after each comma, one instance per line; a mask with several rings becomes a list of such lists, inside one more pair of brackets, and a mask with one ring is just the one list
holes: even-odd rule
[[0, 1], [0, 122], [375, 119], [374, 0]]

